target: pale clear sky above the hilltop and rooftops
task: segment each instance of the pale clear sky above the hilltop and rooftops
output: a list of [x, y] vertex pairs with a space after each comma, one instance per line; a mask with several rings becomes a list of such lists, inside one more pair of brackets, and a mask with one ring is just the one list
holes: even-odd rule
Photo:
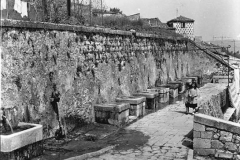
[[194, 19], [194, 34], [210, 41], [240, 39], [240, 0], [104, 0], [126, 15], [140, 13], [141, 18], [158, 17], [161, 22], [185, 16]]

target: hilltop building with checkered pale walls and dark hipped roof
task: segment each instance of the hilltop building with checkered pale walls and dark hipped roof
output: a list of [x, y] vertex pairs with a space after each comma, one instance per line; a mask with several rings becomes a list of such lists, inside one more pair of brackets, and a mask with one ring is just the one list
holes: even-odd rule
[[194, 39], [194, 20], [179, 16], [167, 22], [169, 27], [176, 28], [176, 33], [182, 34], [184, 37]]

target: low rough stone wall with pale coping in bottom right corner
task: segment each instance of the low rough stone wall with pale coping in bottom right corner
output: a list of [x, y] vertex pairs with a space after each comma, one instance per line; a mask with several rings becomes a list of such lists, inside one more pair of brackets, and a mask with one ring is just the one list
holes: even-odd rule
[[193, 128], [194, 155], [240, 159], [240, 124], [196, 114]]

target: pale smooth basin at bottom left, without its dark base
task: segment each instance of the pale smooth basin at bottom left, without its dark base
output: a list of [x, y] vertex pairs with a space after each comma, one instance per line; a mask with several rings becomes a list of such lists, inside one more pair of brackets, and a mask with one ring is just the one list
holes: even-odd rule
[[12, 152], [43, 139], [42, 125], [23, 122], [19, 122], [18, 124], [18, 126], [23, 125], [30, 125], [33, 127], [10, 135], [0, 135], [0, 152]]

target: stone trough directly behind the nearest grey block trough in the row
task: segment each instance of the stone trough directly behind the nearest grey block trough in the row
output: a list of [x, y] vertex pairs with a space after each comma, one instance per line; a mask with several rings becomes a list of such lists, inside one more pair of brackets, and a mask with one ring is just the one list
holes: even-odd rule
[[130, 104], [130, 116], [141, 117], [146, 114], [146, 98], [145, 97], [134, 97], [134, 96], [122, 96], [117, 97], [116, 102], [123, 102]]

